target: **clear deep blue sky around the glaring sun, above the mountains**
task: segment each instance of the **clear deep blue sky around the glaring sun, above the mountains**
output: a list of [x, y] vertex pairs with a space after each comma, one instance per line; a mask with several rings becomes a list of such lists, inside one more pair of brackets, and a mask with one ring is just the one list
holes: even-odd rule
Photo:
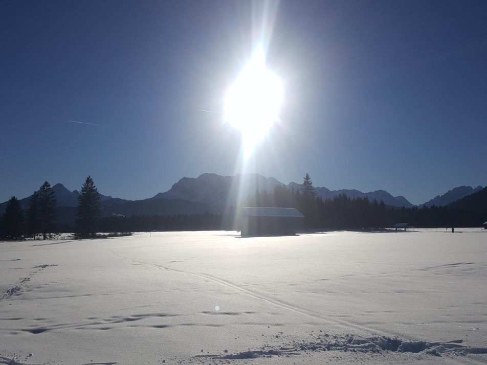
[[239, 132], [198, 109], [223, 110], [259, 39], [284, 105], [245, 171], [415, 204], [487, 185], [483, 0], [2, 0], [0, 201], [240, 172]]

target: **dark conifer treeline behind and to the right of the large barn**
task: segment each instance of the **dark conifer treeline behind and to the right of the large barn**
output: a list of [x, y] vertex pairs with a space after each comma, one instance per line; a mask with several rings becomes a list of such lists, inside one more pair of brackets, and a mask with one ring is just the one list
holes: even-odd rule
[[323, 200], [317, 196], [311, 178], [304, 176], [299, 190], [277, 186], [273, 192], [259, 191], [247, 201], [251, 207], [296, 208], [307, 228], [383, 229], [396, 223], [415, 227], [479, 227], [487, 220], [487, 188], [445, 207], [396, 208], [381, 200], [350, 198], [340, 194]]

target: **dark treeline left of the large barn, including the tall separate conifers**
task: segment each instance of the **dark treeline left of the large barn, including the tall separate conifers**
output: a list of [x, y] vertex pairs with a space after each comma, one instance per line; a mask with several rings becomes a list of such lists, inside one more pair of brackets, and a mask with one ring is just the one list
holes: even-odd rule
[[57, 199], [49, 182], [45, 182], [29, 198], [29, 208], [24, 212], [19, 200], [12, 196], [0, 216], [0, 239], [49, 239], [55, 233], [75, 233], [77, 238], [96, 238], [98, 232], [149, 232], [149, 231], [212, 231], [233, 229], [230, 214], [179, 214], [113, 215], [101, 217], [100, 196], [93, 179], [88, 176], [81, 188], [76, 209], [75, 225], [57, 222]]

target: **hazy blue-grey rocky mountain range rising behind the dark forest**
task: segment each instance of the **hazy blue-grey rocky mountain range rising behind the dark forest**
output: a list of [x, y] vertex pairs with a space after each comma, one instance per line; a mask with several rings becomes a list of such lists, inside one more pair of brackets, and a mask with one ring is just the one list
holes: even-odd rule
[[[282, 184], [274, 177], [264, 177], [259, 174], [237, 174], [235, 176], [220, 176], [205, 173], [196, 178], [183, 177], [172, 185], [171, 189], [159, 193], [151, 198], [142, 200], [125, 200], [100, 194], [100, 206], [103, 216], [110, 215], [175, 215], [195, 213], [221, 213], [226, 207], [238, 206], [238, 201], [245, 199], [256, 191], [267, 190], [272, 192], [276, 186], [299, 190], [300, 184], [291, 182]], [[57, 197], [60, 223], [70, 224], [74, 221], [76, 207], [78, 206], [79, 192], [70, 191], [62, 184], [52, 187]], [[447, 204], [482, 190], [481, 186], [458, 187], [447, 193], [421, 204], [421, 206], [446, 206]], [[358, 190], [329, 190], [325, 187], [315, 188], [317, 195], [323, 200], [333, 199], [339, 194], [346, 194], [350, 198], [365, 198], [369, 200], [383, 200], [391, 207], [413, 207], [405, 197], [392, 196], [385, 190], [376, 190], [363, 193]], [[30, 197], [20, 199], [20, 206], [28, 208]], [[0, 214], [4, 212], [7, 202], [0, 204]]]

